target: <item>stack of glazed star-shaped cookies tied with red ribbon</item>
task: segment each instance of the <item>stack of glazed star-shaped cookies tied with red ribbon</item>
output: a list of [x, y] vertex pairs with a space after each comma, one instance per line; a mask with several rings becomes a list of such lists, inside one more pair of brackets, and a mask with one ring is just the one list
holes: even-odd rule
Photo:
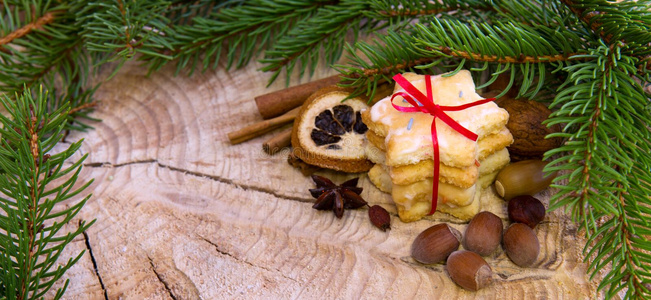
[[[414, 87], [426, 94], [425, 76], [403, 75]], [[434, 103], [458, 106], [483, 99], [475, 92], [470, 72], [453, 76], [431, 77]], [[403, 91], [396, 85], [395, 92]], [[411, 106], [397, 96], [393, 103]], [[369, 178], [380, 190], [391, 193], [400, 219], [416, 221], [431, 208], [433, 180], [438, 180], [437, 210], [463, 220], [480, 210], [481, 189], [495, 180], [497, 172], [509, 163], [506, 147], [513, 136], [506, 129], [506, 110], [495, 103], [447, 111], [461, 126], [478, 135], [472, 141], [436, 119], [439, 146], [439, 178], [433, 177], [431, 125], [433, 116], [422, 112], [401, 112], [391, 104], [391, 97], [378, 101], [362, 113], [369, 127], [366, 154], [375, 163]]]

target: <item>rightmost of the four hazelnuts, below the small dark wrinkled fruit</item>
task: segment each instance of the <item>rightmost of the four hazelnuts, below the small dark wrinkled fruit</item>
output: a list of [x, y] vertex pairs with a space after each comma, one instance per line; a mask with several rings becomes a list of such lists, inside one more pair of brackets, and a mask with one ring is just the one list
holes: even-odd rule
[[538, 258], [540, 243], [531, 227], [522, 223], [513, 223], [502, 237], [504, 250], [511, 261], [520, 266], [531, 266]]

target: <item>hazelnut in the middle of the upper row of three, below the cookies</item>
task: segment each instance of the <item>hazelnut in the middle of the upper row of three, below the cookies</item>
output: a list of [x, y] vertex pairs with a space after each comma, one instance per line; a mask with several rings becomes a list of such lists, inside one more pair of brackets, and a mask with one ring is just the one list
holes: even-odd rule
[[482, 211], [468, 224], [463, 237], [463, 248], [486, 256], [491, 254], [502, 240], [502, 220], [495, 214]]

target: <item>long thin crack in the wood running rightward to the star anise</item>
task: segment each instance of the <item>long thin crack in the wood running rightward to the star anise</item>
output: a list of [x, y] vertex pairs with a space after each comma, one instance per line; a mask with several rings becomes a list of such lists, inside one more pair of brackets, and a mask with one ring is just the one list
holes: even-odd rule
[[296, 197], [296, 196], [288, 196], [288, 195], [282, 195], [274, 190], [264, 188], [264, 187], [259, 187], [259, 186], [254, 186], [254, 185], [249, 185], [249, 184], [242, 184], [242, 183], [237, 183], [232, 179], [224, 178], [221, 176], [217, 175], [212, 175], [208, 173], [201, 173], [201, 172], [196, 172], [196, 171], [190, 171], [182, 168], [177, 168], [165, 164], [161, 164], [158, 162], [158, 160], [155, 159], [148, 159], [148, 160], [140, 160], [140, 161], [132, 161], [132, 162], [126, 162], [126, 163], [121, 163], [121, 164], [112, 164], [108, 162], [97, 162], [97, 163], [86, 163], [84, 164], [84, 167], [92, 167], [92, 168], [119, 168], [119, 167], [124, 167], [124, 166], [130, 166], [130, 165], [138, 165], [138, 164], [156, 164], [157, 166], [161, 168], [168, 169], [170, 171], [174, 172], [181, 172], [184, 174], [196, 176], [196, 177], [204, 177], [208, 178], [213, 181], [217, 181], [220, 183], [228, 184], [228, 185], [233, 185], [235, 187], [241, 188], [245, 191], [251, 190], [251, 191], [256, 191], [260, 193], [265, 193], [265, 194], [270, 194], [276, 198], [279, 199], [284, 199], [284, 200], [292, 200], [292, 201], [298, 201], [298, 202], [304, 202], [304, 203], [313, 203], [314, 200], [311, 198], [302, 198], [302, 197]]

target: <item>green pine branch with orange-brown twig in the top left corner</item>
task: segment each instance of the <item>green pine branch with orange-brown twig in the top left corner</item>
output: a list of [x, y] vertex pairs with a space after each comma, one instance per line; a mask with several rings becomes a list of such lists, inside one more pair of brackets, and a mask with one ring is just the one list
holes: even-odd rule
[[[0, 92], [12, 96], [22, 94], [25, 87], [44, 85], [53, 98], [48, 106], [51, 111], [62, 102], [90, 108], [85, 104], [92, 101], [96, 88], [87, 86], [93, 63], [80, 47], [78, 28], [73, 26], [74, 11], [80, 4], [51, 6], [16, 1], [7, 5], [28, 8], [30, 12], [7, 8], [6, 15], [0, 18], [0, 28], [6, 30], [0, 37]], [[67, 129], [88, 128], [79, 117], [87, 116], [89, 111], [79, 109], [70, 114]]]

